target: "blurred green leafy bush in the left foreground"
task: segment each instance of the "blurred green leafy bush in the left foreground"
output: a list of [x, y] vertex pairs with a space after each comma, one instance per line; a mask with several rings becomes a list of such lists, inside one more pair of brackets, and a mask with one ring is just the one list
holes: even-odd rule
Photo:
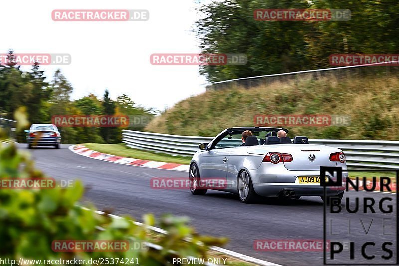
[[[43, 179], [44, 175], [35, 169], [29, 154], [10, 144], [0, 146], [0, 178]], [[83, 191], [81, 182], [69, 188], [0, 189], [0, 258], [137, 258], [140, 265], [168, 265], [166, 262], [173, 257], [207, 258], [209, 245], [222, 245], [226, 241], [200, 236], [187, 226], [186, 218], [172, 216], [162, 217], [159, 223], [169, 233], [154, 235], [148, 228], [155, 224], [153, 215], [145, 215], [145, 226], [138, 226], [129, 217], [114, 219], [106, 213], [96, 214], [94, 208], [82, 208], [77, 204]], [[54, 252], [53, 240], [128, 240], [130, 243], [151, 242], [163, 249]]]

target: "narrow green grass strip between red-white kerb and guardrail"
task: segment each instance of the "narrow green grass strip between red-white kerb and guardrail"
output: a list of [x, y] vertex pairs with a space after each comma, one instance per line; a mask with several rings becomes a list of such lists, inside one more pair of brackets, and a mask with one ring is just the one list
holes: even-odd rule
[[177, 164], [190, 164], [190, 157], [173, 156], [164, 153], [153, 153], [149, 151], [142, 151], [131, 149], [126, 147], [125, 144], [98, 144], [98, 143], [85, 143], [83, 144], [87, 148], [112, 155], [130, 157], [141, 160], [158, 161], [166, 163], [177, 163]]

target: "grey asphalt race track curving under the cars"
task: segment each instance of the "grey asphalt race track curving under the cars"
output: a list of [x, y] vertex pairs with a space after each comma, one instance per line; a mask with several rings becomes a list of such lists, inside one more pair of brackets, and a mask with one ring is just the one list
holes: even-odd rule
[[[18, 145], [27, 150], [26, 144]], [[228, 237], [227, 249], [282, 265], [323, 264], [323, 252], [265, 252], [255, 250], [253, 245], [257, 239], [322, 240], [323, 203], [319, 197], [265, 199], [248, 205], [224, 192], [208, 191], [205, 196], [194, 196], [186, 190], [155, 190], [150, 188], [150, 178], [187, 177], [188, 173], [95, 160], [72, 153], [68, 146], [61, 145], [59, 150], [42, 147], [27, 151], [49, 177], [83, 180], [89, 188], [84, 200], [94, 203], [97, 210], [128, 214], [138, 221], [145, 213], [188, 216], [201, 234]], [[385, 196], [385, 193], [373, 193], [376, 202]], [[395, 214], [385, 217], [394, 219]], [[364, 216], [353, 214], [351, 218], [359, 221]], [[365, 226], [369, 224], [364, 222]], [[348, 231], [345, 226], [336, 230], [343, 234]], [[364, 237], [365, 234], [359, 234], [359, 242]], [[380, 234], [379, 238], [377, 240], [384, 240], [386, 236]]]

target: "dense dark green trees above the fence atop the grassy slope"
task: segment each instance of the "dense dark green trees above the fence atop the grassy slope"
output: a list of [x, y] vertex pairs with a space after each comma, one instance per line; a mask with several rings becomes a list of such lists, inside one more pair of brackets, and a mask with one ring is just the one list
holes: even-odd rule
[[[256, 21], [255, 9], [349, 9], [349, 21]], [[209, 82], [331, 67], [342, 53], [397, 54], [399, 2], [391, 0], [213, 0], [196, 23], [203, 53], [243, 53], [244, 66], [204, 65]], [[372, 37], [370, 33], [372, 32]]]

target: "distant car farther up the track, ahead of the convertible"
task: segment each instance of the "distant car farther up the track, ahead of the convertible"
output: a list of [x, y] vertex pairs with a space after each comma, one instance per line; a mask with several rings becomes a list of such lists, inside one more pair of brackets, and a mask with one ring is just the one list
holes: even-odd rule
[[53, 124], [33, 124], [27, 133], [26, 140], [28, 149], [33, 146], [54, 146], [59, 149], [61, 143], [61, 133], [58, 128]]

